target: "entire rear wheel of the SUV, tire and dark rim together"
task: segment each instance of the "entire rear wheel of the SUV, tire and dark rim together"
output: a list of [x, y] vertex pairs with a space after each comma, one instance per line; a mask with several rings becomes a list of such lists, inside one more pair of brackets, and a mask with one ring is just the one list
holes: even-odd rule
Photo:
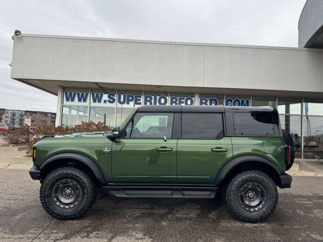
[[259, 170], [237, 174], [229, 183], [225, 200], [229, 212], [243, 222], [260, 222], [274, 212], [277, 187], [271, 177]]

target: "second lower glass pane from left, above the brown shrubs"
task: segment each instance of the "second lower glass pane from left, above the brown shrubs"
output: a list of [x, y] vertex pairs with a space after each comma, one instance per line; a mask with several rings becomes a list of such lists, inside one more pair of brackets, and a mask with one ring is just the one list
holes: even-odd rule
[[114, 107], [90, 107], [90, 121], [104, 123], [105, 120], [105, 126], [113, 127], [115, 125], [115, 110]]

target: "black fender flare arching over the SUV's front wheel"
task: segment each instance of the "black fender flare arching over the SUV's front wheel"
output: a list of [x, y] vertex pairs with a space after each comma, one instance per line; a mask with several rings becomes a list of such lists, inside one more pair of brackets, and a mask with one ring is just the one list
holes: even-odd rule
[[78, 161], [82, 162], [83, 164], [87, 165], [93, 171], [93, 173], [94, 173], [96, 179], [99, 181], [99, 183], [105, 184], [104, 176], [103, 176], [100, 168], [97, 166], [97, 164], [93, 160], [91, 160], [90, 158], [88, 158], [84, 155], [81, 155], [81, 154], [77, 154], [77, 153], [62, 153], [62, 154], [54, 155], [54, 156], [48, 158], [39, 167], [39, 169], [41, 170], [50, 162], [58, 160], [58, 159], [73, 159], [73, 160], [78, 160]]

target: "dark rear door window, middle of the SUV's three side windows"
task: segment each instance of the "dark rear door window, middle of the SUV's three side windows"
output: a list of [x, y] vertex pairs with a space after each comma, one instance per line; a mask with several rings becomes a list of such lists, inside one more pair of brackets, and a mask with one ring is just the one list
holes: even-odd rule
[[224, 136], [222, 114], [183, 113], [183, 139], [221, 139]]

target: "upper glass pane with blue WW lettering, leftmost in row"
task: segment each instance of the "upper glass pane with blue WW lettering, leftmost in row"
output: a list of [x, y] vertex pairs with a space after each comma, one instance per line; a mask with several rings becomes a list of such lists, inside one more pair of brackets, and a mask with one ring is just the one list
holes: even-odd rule
[[90, 92], [87, 88], [64, 88], [63, 104], [65, 105], [88, 105]]

